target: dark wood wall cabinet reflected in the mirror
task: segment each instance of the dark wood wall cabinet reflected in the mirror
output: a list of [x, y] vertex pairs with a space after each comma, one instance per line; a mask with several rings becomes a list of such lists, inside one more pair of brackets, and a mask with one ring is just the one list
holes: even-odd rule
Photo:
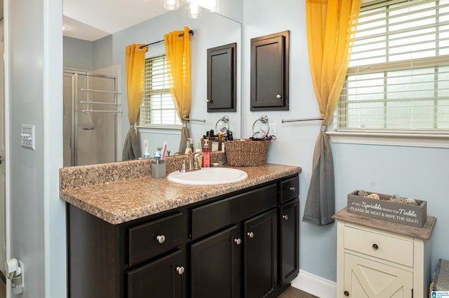
[[236, 46], [208, 49], [208, 112], [236, 111]]

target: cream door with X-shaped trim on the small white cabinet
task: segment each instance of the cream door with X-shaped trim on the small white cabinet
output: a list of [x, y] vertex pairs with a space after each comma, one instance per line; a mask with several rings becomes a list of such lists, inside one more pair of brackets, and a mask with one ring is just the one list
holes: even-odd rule
[[344, 253], [344, 292], [338, 297], [412, 297], [413, 273]]

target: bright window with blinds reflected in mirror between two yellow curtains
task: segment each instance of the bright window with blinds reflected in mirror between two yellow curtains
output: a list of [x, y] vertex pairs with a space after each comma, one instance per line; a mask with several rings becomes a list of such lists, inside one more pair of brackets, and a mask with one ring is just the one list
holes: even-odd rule
[[165, 55], [145, 59], [145, 83], [140, 107], [140, 125], [182, 125], [175, 110], [168, 87], [167, 59]]

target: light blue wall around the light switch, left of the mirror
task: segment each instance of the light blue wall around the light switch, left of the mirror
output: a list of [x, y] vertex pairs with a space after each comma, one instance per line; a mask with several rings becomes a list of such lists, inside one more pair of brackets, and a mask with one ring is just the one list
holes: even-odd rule
[[[7, 257], [25, 265], [23, 298], [67, 292], [61, 11], [60, 0], [5, 1]], [[22, 124], [35, 126], [36, 150], [22, 148]]]

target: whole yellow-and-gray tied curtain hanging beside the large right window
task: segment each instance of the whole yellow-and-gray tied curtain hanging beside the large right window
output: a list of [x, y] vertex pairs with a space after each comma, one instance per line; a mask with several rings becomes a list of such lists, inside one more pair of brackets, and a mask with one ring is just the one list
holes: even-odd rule
[[340, 97], [362, 0], [306, 0], [309, 63], [321, 117], [303, 221], [333, 222], [335, 182], [332, 150], [326, 127]]

